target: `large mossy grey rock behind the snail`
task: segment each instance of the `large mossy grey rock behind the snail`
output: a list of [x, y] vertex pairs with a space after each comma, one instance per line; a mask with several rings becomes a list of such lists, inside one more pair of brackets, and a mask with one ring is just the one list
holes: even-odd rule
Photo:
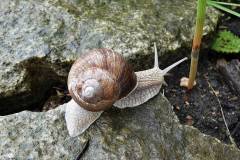
[[[0, 1], [0, 115], [39, 103], [85, 50], [112, 48], [140, 69], [153, 42], [161, 54], [188, 48], [195, 10], [192, 0]], [[208, 13], [205, 34], [218, 19]]]

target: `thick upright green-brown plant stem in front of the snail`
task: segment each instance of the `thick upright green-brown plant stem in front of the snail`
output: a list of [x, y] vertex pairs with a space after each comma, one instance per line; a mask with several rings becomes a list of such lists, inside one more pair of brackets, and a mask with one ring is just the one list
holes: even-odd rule
[[203, 25], [204, 25], [205, 13], [206, 13], [206, 4], [207, 4], [206, 0], [198, 0], [197, 20], [196, 20], [196, 28], [195, 28], [195, 34], [194, 34], [193, 44], [192, 44], [191, 67], [190, 67], [190, 73], [189, 73], [188, 89], [193, 88], [194, 80], [196, 78], [199, 49], [200, 49], [200, 44], [202, 40]]

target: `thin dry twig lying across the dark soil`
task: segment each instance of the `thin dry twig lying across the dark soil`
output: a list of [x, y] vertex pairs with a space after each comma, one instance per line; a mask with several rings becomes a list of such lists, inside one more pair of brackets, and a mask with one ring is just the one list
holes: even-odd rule
[[216, 94], [216, 91], [213, 89], [212, 85], [208, 81], [208, 78], [206, 76], [204, 76], [204, 77], [207, 80], [209, 88], [213, 91], [213, 94], [215, 95], [215, 97], [216, 97], [216, 99], [218, 101], [218, 104], [219, 104], [219, 107], [220, 107], [220, 111], [221, 111], [221, 114], [222, 114], [222, 118], [223, 118], [223, 121], [224, 121], [224, 124], [225, 124], [225, 127], [226, 127], [226, 134], [227, 134], [230, 142], [232, 143], [232, 145], [234, 145], [236, 147], [237, 145], [236, 145], [236, 143], [235, 143], [234, 139], [232, 138], [231, 133], [229, 131], [229, 128], [228, 128], [228, 125], [227, 125], [227, 122], [226, 122], [226, 118], [225, 118], [224, 113], [223, 113], [222, 105], [221, 105], [221, 102], [220, 102], [220, 100], [219, 100], [219, 98], [218, 98], [218, 96]]

